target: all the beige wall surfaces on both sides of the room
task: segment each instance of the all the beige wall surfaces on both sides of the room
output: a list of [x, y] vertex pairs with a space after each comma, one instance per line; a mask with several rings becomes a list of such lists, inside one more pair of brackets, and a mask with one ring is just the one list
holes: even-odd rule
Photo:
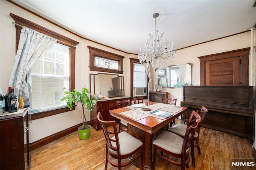
[[[89, 49], [87, 48], [87, 45], [124, 56], [124, 74], [122, 76], [124, 76], [125, 81], [125, 95], [130, 96], [129, 58], [137, 58], [137, 55], [126, 54], [83, 40], [6, 1], [0, 1], [0, 11], [0, 87], [2, 88], [3, 93], [6, 93], [7, 91], [10, 72], [15, 57], [15, 27], [12, 24], [14, 21], [9, 16], [10, 13], [13, 13], [80, 42], [76, 48], [76, 88], [83, 87], [89, 83], [89, 73], [97, 73], [95, 71], [89, 71]], [[188, 62], [192, 63], [192, 81], [194, 81], [194, 85], [200, 85], [200, 63], [197, 57], [245, 47], [250, 47], [250, 32], [178, 50], [174, 62], [168, 63], [167, 65], [180, 65]], [[156, 74], [153, 69], [151, 69], [151, 72], [153, 74], [153, 90], [155, 91], [154, 85], [156, 84]], [[169, 97], [177, 98], [177, 105], [180, 105], [180, 101], [182, 101], [182, 88], [163, 88], [162, 91], [168, 91]], [[69, 111], [32, 121], [32, 124], [30, 125], [30, 142], [40, 140], [46, 136], [81, 123], [81, 110], [79, 108], [80, 107], [77, 107], [75, 111]], [[88, 119], [90, 120], [90, 115], [88, 116]]]

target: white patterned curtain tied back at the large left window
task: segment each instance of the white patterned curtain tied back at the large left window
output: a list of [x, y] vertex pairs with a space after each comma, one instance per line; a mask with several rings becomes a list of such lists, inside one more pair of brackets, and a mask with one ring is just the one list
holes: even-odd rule
[[14, 86], [15, 94], [23, 98], [24, 105], [30, 104], [26, 74], [35, 61], [48, 51], [55, 42], [57, 42], [55, 38], [22, 27], [9, 86]]

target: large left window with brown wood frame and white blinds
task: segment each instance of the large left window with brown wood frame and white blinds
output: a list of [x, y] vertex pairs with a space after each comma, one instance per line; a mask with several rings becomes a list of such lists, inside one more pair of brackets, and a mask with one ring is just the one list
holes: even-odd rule
[[[40, 119], [42, 117], [47, 117], [47, 116], [56, 115], [59, 113], [70, 111], [70, 109], [68, 109], [68, 107], [66, 105], [61, 107], [62, 103], [60, 103], [60, 101], [58, 101], [58, 99], [61, 99], [61, 97], [63, 95], [62, 88], [64, 86], [66, 86], [66, 88], [68, 88], [70, 91], [75, 89], [76, 45], [79, 42], [76, 42], [68, 37], [65, 37], [61, 34], [53, 32], [52, 30], [48, 30], [47, 28], [44, 28], [38, 24], [30, 22], [29, 20], [26, 20], [24, 18], [16, 16], [12, 13], [10, 13], [10, 16], [14, 19], [15, 23], [18, 24], [18, 25], [15, 25], [15, 27], [16, 27], [16, 50], [18, 49], [18, 42], [20, 39], [20, 32], [21, 32], [21, 28], [22, 28], [21, 26], [26, 26], [28, 28], [32, 28], [33, 30], [36, 30], [38, 32], [41, 32], [41, 33], [51, 36], [53, 38], [56, 38], [58, 40], [57, 41], [58, 43], [56, 43], [56, 45], [54, 45], [54, 47], [52, 48], [52, 51], [61, 51], [61, 50], [69, 48], [69, 51], [68, 52], [66, 51], [68, 53], [68, 57], [64, 57], [65, 59], [62, 58], [63, 56], [60, 55], [59, 53], [56, 54], [55, 59], [52, 58], [52, 55], [48, 55], [46, 53], [43, 57], [43, 60], [39, 60], [38, 62], [40, 64], [44, 63], [44, 65], [45, 66], [48, 65], [48, 67], [44, 68], [43, 71], [42, 70], [33, 70], [32, 71], [32, 75], [31, 75], [32, 80], [34, 78], [34, 80], [38, 79], [38, 81], [39, 81], [39, 78], [36, 75], [41, 76], [40, 87], [45, 86], [46, 84], [53, 85], [52, 87], [48, 87], [48, 89], [57, 89], [58, 88], [58, 90], [60, 90], [61, 92], [60, 91], [52, 92], [52, 94], [51, 94], [52, 103], [50, 103], [52, 105], [51, 109], [50, 108], [40, 109], [38, 106], [39, 105], [38, 103], [31, 103], [32, 110], [34, 111], [34, 114], [31, 114], [31, 120]], [[21, 25], [21, 26], [19, 26], [19, 25]], [[49, 51], [49, 53], [53, 53], [52, 51]], [[64, 66], [63, 61], [64, 62], [68, 61], [69, 63], [66, 63], [66, 65]], [[33, 86], [31, 90], [34, 91], [35, 88], [38, 88], [38, 87], [37, 87], [37, 85], [33, 85], [33, 83], [35, 83], [35, 82], [33, 82], [32, 80], [30, 81], [30, 83], [32, 83], [32, 86]], [[43, 93], [46, 93], [46, 92], [42, 91], [41, 94], [43, 94]], [[38, 95], [40, 95], [40, 94], [38, 94]], [[38, 96], [36, 96], [36, 97], [38, 97]], [[33, 97], [33, 98], [35, 99], [35, 97]], [[43, 97], [41, 97], [41, 98], [44, 99]], [[40, 98], [37, 98], [37, 99], [40, 100]], [[43, 103], [43, 101], [40, 101], [40, 102]], [[75, 109], [75, 107], [73, 107], [73, 109]], [[45, 110], [45, 111], [43, 111], [43, 110]]]

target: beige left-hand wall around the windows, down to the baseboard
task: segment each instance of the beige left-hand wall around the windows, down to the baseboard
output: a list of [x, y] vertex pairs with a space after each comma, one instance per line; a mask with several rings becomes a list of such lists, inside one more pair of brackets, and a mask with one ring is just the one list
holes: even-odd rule
[[[128, 55], [126, 53], [99, 45], [97, 43], [83, 40], [65, 30], [54, 26], [32, 14], [22, 10], [7, 1], [0, 1], [0, 87], [5, 94], [8, 89], [10, 72], [15, 58], [15, 41], [16, 41], [16, 29], [12, 22], [14, 20], [9, 16], [10, 13], [18, 15], [22, 18], [30, 20], [36, 24], [46, 27], [54, 32], [58, 32], [68, 38], [71, 38], [77, 42], [80, 42], [76, 47], [76, 89], [84, 87], [84, 85], [90, 83], [89, 73], [98, 73], [96, 71], [89, 71], [89, 49], [87, 46], [96, 47], [118, 55], [124, 56], [124, 79], [127, 81], [130, 79], [130, 59], [129, 57], [137, 57], [136, 55]], [[129, 74], [129, 75], [128, 75]], [[109, 88], [109, 87], [108, 87]], [[130, 84], [125, 83], [125, 94], [130, 94]], [[75, 111], [69, 111], [42, 119], [33, 120], [30, 125], [30, 142], [40, 140], [51, 134], [60, 132], [74, 125], [81, 123], [80, 117], [81, 109], [77, 107]], [[90, 114], [87, 117], [90, 120]]]

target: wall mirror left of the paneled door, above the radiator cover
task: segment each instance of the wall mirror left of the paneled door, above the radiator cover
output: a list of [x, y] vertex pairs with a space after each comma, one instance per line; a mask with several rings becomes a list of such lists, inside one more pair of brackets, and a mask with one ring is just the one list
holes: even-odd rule
[[191, 85], [191, 66], [191, 63], [187, 63], [156, 69], [156, 82], [162, 87]]

